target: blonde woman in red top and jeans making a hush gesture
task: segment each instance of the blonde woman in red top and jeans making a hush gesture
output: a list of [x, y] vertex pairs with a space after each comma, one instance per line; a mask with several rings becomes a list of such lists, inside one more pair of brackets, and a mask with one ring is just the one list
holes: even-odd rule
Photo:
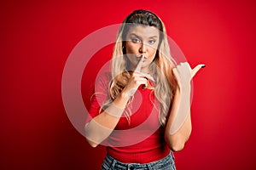
[[156, 14], [125, 18], [84, 127], [92, 147], [107, 145], [102, 169], [176, 169], [172, 151], [189, 139], [190, 80], [201, 67], [175, 66]]

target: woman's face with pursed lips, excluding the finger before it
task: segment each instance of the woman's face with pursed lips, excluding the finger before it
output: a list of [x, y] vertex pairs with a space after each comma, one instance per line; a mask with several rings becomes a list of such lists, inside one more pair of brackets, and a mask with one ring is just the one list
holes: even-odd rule
[[125, 48], [131, 70], [137, 67], [144, 56], [142, 71], [148, 72], [160, 41], [160, 31], [154, 26], [132, 26], [127, 32]]

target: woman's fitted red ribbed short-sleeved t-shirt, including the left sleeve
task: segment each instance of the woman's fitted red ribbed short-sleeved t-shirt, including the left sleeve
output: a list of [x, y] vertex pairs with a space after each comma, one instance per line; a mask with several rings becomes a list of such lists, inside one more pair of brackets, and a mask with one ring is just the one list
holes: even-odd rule
[[[110, 81], [109, 74], [96, 81], [90, 119], [100, 114], [101, 105], [108, 99]], [[159, 105], [152, 90], [139, 87], [130, 105], [130, 123], [123, 114], [113, 133], [103, 141], [108, 154], [125, 163], [148, 163], [167, 156], [170, 150], [164, 139], [165, 128], [159, 122]]]

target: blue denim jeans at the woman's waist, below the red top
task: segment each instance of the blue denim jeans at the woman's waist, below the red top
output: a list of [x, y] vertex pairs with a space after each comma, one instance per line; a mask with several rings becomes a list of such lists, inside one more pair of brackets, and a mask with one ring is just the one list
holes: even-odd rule
[[176, 170], [172, 151], [168, 156], [149, 163], [123, 163], [111, 156], [106, 156], [102, 163], [102, 170]]

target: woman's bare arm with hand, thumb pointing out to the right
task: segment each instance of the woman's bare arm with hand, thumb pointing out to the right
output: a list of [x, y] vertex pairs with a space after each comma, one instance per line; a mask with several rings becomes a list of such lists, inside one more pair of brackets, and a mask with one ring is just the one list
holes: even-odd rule
[[172, 102], [172, 111], [166, 124], [166, 142], [172, 150], [183, 150], [184, 144], [188, 141], [192, 125], [190, 116], [190, 80], [204, 65], [197, 65], [191, 70], [188, 63], [177, 65], [173, 69], [177, 77], [178, 88]]

